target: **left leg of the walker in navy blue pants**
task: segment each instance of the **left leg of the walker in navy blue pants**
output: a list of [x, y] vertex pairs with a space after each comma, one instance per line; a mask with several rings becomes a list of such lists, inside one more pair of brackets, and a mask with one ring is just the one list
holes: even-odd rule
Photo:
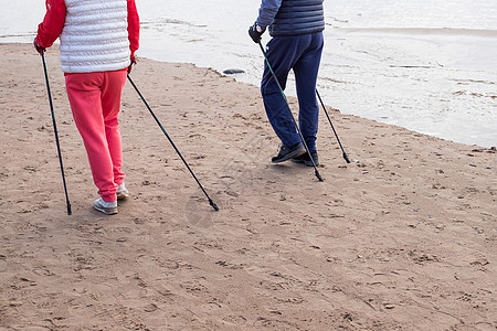
[[[286, 87], [288, 73], [296, 58], [298, 58], [299, 52], [298, 38], [273, 38], [267, 43], [266, 56], [283, 89]], [[264, 63], [261, 94], [267, 118], [282, 143], [286, 147], [292, 147], [300, 142], [300, 136], [295, 129], [288, 107], [267, 67], [267, 63]]]

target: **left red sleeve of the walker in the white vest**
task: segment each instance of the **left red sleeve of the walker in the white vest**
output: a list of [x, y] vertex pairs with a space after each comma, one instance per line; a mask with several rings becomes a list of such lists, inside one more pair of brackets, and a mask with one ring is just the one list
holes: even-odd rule
[[36, 42], [43, 47], [52, 46], [54, 41], [61, 35], [65, 22], [64, 0], [46, 0], [46, 13], [43, 22], [38, 25]]

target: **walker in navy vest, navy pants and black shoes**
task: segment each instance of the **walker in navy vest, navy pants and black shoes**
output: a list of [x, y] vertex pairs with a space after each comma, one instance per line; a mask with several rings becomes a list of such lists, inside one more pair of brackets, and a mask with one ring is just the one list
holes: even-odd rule
[[[261, 42], [262, 34], [268, 29], [272, 39], [266, 45], [266, 55], [283, 89], [286, 87], [289, 71], [294, 71], [299, 106], [298, 126], [316, 166], [319, 118], [316, 81], [324, 46], [322, 1], [262, 0], [258, 18], [248, 29], [248, 34], [255, 43]], [[279, 163], [292, 159], [311, 167], [313, 162], [267, 63], [264, 65], [261, 93], [269, 122], [282, 140], [282, 148], [272, 162]]]

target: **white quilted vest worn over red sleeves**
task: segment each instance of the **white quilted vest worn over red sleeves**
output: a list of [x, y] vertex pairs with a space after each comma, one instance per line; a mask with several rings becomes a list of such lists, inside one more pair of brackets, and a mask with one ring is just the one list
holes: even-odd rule
[[64, 0], [64, 73], [117, 71], [130, 64], [126, 0]]

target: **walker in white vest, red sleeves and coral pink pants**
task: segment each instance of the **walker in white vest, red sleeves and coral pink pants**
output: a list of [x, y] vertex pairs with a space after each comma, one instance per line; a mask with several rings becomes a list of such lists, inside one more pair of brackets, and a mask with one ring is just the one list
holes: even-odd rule
[[42, 54], [57, 38], [73, 118], [101, 195], [93, 206], [117, 214], [117, 200], [129, 195], [118, 115], [139, 46], [135, 0], [46, 0], [34, 47]]

